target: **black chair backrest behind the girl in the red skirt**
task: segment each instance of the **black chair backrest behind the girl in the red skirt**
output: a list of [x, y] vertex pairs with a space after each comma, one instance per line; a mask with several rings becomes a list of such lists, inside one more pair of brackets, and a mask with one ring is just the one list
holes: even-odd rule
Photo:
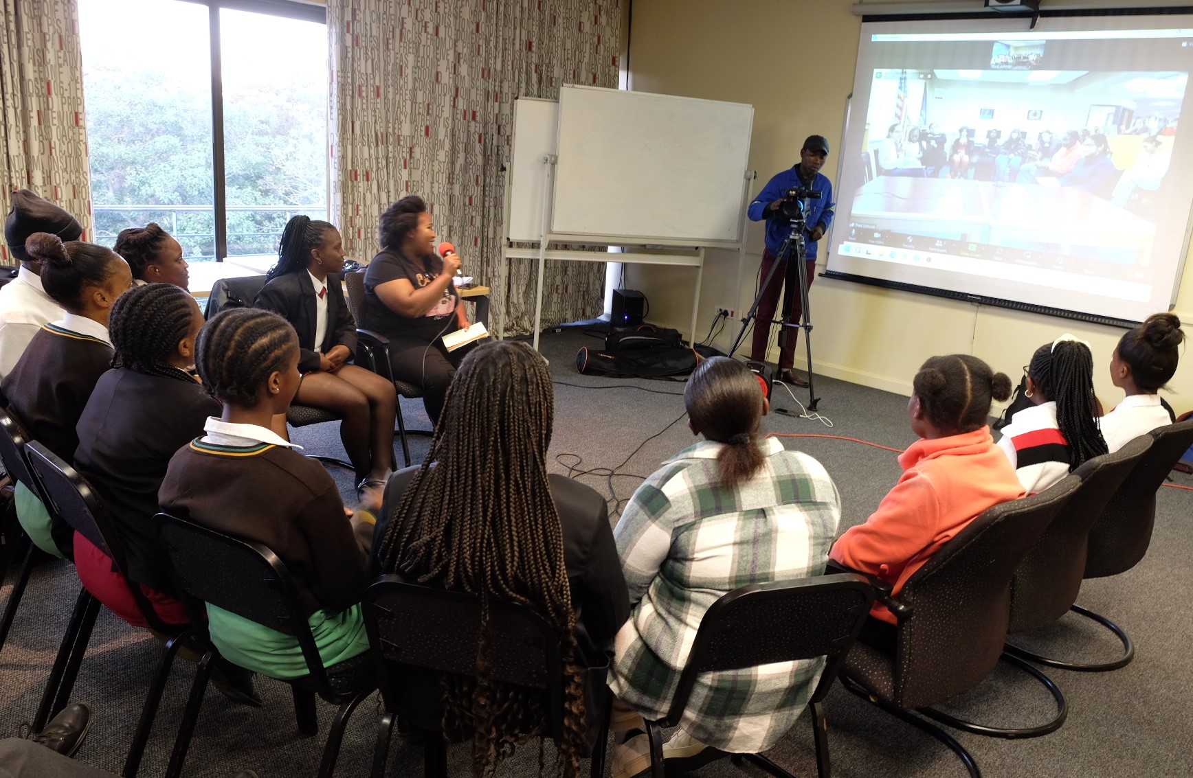
[[[55, 511], [76, 533], [91, 541], [92, 546], [104, 552], [123, 577], [125, 555], [119, 533], [109, 521], [107, 510], [95, 490], [74, 467], [41, 443], [31, 442], [26, 450], [29, 465], [41, 483], [45, 498], [51, 503], [49, 510]], [[178, 625], [162, 622], [138, 585], [126, 578], [125, 584], [137, 610], [152, 629], [163, 635], [178, 631]]]

